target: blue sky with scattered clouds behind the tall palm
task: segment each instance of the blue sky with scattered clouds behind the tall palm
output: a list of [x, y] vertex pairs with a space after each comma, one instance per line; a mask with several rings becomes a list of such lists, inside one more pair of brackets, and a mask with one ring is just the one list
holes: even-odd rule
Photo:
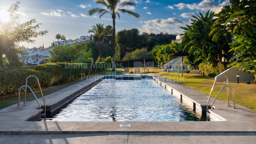
[[[94, 0], [20, 0], [21, 22], [36, 18], [42, 23], [40, 30], [49, 30], [46, 36], [35, 38], [35, 44], [21, 43], [33, 46], [49, 46], [55, 41], [55, 35], [60, 33], [67, 39], [76, 39], [87, 33], [95, 23], [112, 25], [110, 15], [99, 18], [98, 15], [88, 16], [91, 8], [101, 7]], [[205, 13], [208, 9], [214, 11], [222, 5], [229, 5], [229, 0], [130, 0], [136, 4], [130, 10], [139, 13], [136, 19], [127, 14], [121, 14], [116, 19], [116, 30], [138, 28], [140, 33], [182, 33], [180, 26], [185, 26], [192, 19], [191, 15]], [[0, 0], [0, 11], [7, 10], [16, 0]], [[1, 15], [1, 14], [0, 14]]]

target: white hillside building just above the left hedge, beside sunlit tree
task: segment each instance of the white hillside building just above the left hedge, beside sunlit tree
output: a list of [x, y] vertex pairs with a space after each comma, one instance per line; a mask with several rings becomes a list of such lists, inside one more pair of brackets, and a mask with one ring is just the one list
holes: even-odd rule
[[50, 57], [49, 51], [52, 51], [52, 47], [43, 48], [40, 47], [33, 47], [33, 48], [26, 48], [21, 46], [20, 49], [24, 52], [23, 54], [19, 54], [19, 58], [25, 64], [30, 65], [39, 65], [43, 60], [46, 60]]

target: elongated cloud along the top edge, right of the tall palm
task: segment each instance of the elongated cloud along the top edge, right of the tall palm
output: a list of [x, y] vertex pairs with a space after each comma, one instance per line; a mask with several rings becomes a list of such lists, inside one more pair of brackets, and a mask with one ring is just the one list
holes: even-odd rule
[[214, 11], [215, 9], [223, 6], [223, 5], [230, 5], [229, 0], [224, 0], [222, 3], [220, 2], [215, 2], [214, 0], [202, 0], [199, 3], [192, 3], [192, 4], [186, 4], [186, 3], [178, 3], [174, 5], [178, 9], [183, 9], [183, 8], [189, 8], [189, 9], [198, 9], [198, 10], [212, 10]]

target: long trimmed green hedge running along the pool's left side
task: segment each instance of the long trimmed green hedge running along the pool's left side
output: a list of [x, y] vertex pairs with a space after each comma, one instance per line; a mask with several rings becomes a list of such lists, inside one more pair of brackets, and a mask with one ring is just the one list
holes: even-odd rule
[[[0, 69], [0, 99], [10, 95], [17, 94], [18, 89], [25, 85], [26, 77], [30, 75], [39, 78], [42, 87], [69, 82], [78, 78], [81, 74], [88, 76], [91, 73], [99, 72], [104, 68], [92, 64], [80, 63], [47, 63], [36, 66], [33, 69], [17, 68], [17, 69]], [[31, 88], [38, 89], [38, 83], [34, 78], [31, 78], [29, 83]]]

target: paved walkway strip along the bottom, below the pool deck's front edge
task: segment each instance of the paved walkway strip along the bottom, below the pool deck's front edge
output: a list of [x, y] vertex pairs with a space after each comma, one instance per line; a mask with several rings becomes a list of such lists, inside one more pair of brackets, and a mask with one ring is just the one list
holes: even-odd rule
[[0, 135], [1, 144], [255, 144], [255, 142], [255, 133]]

